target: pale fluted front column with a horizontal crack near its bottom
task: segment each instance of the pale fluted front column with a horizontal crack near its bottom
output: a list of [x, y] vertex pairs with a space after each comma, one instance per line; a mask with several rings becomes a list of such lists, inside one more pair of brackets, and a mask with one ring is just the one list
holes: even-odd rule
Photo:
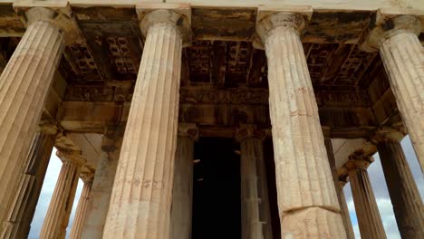
[[[302, 10], [301, 7], [295, 8]], [[282, 238], [345, 238], [300, 33], [303, 14], [258, 10], [268, 60], [269, 108]]]

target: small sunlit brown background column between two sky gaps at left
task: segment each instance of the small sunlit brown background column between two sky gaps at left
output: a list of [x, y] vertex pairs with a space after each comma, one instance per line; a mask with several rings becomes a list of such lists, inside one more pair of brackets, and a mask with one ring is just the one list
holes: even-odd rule
[[49, 209], [44, 217], [40, 233], [42, 239], [65, 237], [78, 185], [78, 175], [80, 168], [85, 163], [85, 159], [77, 152], [57, 151], [57, 156], [62, 159], [63, 165], [54, 187]]

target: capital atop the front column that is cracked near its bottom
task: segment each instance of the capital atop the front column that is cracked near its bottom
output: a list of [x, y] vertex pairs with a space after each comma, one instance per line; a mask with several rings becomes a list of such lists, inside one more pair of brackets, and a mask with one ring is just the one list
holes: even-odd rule
[[273, 6], [262, 5], [257, 9], [256, 33], [259, 39], [254, 40], [256, 48], [264, 49], [266, 39], [275, 29], [285, 28], [302, 34], [313, 14], [311, 6]]

